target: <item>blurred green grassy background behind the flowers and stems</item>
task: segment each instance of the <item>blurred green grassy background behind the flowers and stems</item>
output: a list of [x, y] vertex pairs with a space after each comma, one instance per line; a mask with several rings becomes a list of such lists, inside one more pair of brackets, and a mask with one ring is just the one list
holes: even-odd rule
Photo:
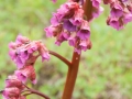
[[[50, 25], [52, 13], [63, 2], [0, 0], [0, 90], [4, 88], [7, 76], [16, 69], [8, 55], [8, 44], [18, 34], [43, 40], [48, 50], [72, 58], [73, 47], [67, 42], [58, 47], [54, 44], [55, 38], [47, 38], [43, 31]], [[73, 99], [132, 99], [132, 23], [121, 31], [106, 25], [109, 9], [105, 8], [103, 14], [90, 24], [92, 48], [82, 52]], [[50, 62], [44, 63], [38, 58], [35, 69], [37, 85], [28, 85], [51, 99], [61, 99], [67, 66], [52, 56]], [[29, 99], [42, 98], [29, 96]]]

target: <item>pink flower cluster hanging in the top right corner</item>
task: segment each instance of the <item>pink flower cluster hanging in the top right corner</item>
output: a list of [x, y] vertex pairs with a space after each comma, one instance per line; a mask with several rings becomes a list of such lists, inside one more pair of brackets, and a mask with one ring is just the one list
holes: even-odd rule
[[117, 29], [123, 29], [124, 24], [132, 21], [131, 0], [103, 0], [105, 4], [110, 4], [110, 15], [107, 24]]

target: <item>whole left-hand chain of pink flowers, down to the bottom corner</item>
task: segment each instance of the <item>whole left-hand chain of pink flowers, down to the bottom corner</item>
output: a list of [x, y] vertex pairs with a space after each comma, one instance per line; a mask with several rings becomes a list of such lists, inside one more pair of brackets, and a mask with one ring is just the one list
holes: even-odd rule
[[50, 59], [50, 54], [45, 45], [41, 41], [30, 41], [25, 36], [19, 35], [15, 42], [9, 44], [9, 55], [16, 64], [18, 69], [13, 76], [9, 76], [6, 80], [6, 89], [2, 90], [4, 99], [25, 99], [22, 96], [24, 84], [30, 79], [36, 82], [34, 63], [38, 56], [42, 61]]

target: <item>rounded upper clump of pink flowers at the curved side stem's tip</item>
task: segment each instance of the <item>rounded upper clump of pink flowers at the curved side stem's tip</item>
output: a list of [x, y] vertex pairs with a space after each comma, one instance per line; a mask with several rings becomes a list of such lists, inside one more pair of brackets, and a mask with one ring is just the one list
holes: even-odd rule
[[[25, 36], [19, 35], [15, 42], [11, 42], [9, 44], [9, 55], [16, 64], [18, 68], [23, 68], [23, 66], [26, 65], [33, 65], [40, 55], [42, 56], [43, 61], [50, 59], [48, 51], [41, 41], [31, 42]], [[37, 54], [34, 55], [36, 52]]]

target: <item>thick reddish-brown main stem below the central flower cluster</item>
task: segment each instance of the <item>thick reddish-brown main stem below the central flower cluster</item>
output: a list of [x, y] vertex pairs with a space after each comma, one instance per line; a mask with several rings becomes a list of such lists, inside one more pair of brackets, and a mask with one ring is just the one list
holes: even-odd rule
[[79, 67], [79, 61], [80, 61], [80, 54], [74, 52], [72, 65], [68, 68], [67, 79], [62, 99], [72, 99], [74, 86], [77, 78], [78, 67]]

